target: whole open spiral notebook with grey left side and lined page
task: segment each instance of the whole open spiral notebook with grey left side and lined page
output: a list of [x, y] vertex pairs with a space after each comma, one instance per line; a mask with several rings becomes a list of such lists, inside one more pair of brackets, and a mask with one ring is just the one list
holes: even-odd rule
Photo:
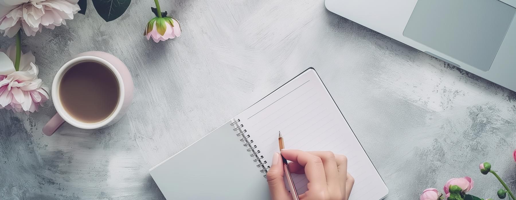
[[[384, 198], [388, 189], [313, 68], [215, 131], [150, 169], [167, 199], [270, 199], [266, 177], [278, 131], [285, 147], [348, 157], [350, 200]], [[304, 175], [294, 174], [298, 193]]]

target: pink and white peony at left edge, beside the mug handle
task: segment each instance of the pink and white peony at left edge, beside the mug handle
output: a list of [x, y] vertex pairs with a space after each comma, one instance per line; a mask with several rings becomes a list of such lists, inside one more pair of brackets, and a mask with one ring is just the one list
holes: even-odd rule
[[20, 69], [14, 69], [16, 47], [0, 51], [0, 108], [25, 113], [38, 111], [49, 100], [49, 88], [38, 79], [36, 59], [28, 52], [21, 55]]

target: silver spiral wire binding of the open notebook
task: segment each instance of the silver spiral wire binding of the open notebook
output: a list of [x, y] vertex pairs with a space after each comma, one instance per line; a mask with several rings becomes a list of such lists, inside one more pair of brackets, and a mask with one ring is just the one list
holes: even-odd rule
[[255, 150], [256, 145], [251, 145], [251, 143], [253, 143], [253, 140], [249, 139], [249, 137], [251, 136], [245, 134], [247, 131], [244, 129], [244, 124], [238, 124], [238, 122], [240, 122], [240, 119], [237, 119], [236, 121], [230, 124], [231, 126], [236, 127], [233, 129], [233, 131], [237, 132], [236, 136], [241, 137], [240, 141], [244, 142], [244, 147], [249, 148], [247, 149], [247, 151], [251, 153], [249, 154], [249, 156], [254, 158], [254, 162], [258, 162], [258, 165], [256, 165], [256, 167], [260, 168], [260, 172], [265, 173], [263, 177], [267, 177], [267, 170], [270, 168], [270, 166], [265, 166], [267, 161], [262, 161], [263, 156], [258, 155], [260, 153], [260, 150]]

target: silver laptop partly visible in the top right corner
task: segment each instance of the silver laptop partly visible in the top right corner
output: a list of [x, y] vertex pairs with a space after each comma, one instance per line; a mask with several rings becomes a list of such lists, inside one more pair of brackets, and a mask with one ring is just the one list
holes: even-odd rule
[[516, 91], [515, 0], [326, 0], [346, 19]]

